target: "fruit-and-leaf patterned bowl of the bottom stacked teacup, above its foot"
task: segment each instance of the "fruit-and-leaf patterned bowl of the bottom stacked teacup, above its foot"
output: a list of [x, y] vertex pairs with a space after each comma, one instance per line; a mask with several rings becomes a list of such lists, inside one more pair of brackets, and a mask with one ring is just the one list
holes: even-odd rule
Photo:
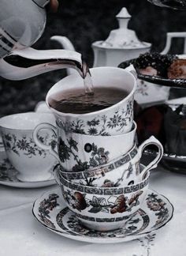
[[128, 216], [143, 202], [149, 183], [149, 173], [142, 182], [124, 187], [91, 187], [69, 182], [54, 170], [62, 196], [74, 213], [85, 216]]

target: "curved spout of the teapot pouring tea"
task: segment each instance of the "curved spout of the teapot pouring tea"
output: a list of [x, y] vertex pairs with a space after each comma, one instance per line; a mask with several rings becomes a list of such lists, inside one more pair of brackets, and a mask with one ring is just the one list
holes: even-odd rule
[[53, 70], [73, 68], [85, 77], [87, 66], [76, 51], [43, 50], [30, 47], [13, 51], [0, 60], [0, 76], [9, 80], [23, 80]]

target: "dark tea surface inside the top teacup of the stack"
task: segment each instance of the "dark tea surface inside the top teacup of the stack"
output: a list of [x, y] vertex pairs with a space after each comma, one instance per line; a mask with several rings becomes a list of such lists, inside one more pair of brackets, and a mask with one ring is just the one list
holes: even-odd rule
[[117, 104], [128, 96], [121, 88], [96, 87], [94, 93], [84, 92], [84, 88], [67, 89], [49, 97], [49, 105], [57, 111], [72, 114], [86, 114], [100, 111]]

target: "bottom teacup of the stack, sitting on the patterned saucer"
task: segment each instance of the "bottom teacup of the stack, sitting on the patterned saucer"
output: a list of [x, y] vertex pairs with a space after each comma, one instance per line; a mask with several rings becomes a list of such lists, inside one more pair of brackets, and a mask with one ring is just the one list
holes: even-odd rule
[[60, 167], [54, 176], [69, 209], [84, 226], [99, 231], [122, 228], [143, 204], [149, 184], [149, 171], [140, 183], [118, 188], [78, 185], [64, 179]]

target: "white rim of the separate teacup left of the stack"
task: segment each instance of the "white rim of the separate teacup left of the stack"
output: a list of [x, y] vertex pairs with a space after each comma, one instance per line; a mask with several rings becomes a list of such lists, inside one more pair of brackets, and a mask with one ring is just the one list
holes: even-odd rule
[[[0, 128], [2, 128], [2, 129], [6, 129], [6, 130], [24, 130], [24, 131], [32, 131], [32, 130], [34, 130], [35, 129], [35, 127], [33, 127], [33, 128], [30, 128], [30, 129], [28, 129], [28, 128], [24, 128], [24, 127], [21, 127], [21, 128], [17, 128], [17, 127], [12, 127], [12, 128], [10, 128], [9, 126], [7, 126], [7, 125], [5, 125], [5, 121], [6, 120], [11, 120], [11, 119], [13, 119], [13, 117], [15, 117], [15, 116], [26, 116], [26, 115], [28, 115], [28, 116], [42, 116], [43, 117], [43, 115], [50, 115], [50, 116], [52, 116], [52, 117], [54, 117], [54, 114], [52, 114], [52, 113], [43, 113], [43, 112], [34, 112], [34, 111], [31, 111], [31, 112], [24, 112], [24, 113], [17, 113], [17, 114], [12, 114], [12, 115], [5, 115], [5, 116], [3, 116], [1, 119], [0, 119]], [[48, 121], [47, 121], [48, 122]], [[54, 122], [55, 122], [55, 119], [54, 119]], [[12, 123], [13, 123], [13, 121], [12, 121]], [[37, 124], [38, 125], [38, 124]], [[36, 125], [36, 126], [37, 126]]]

